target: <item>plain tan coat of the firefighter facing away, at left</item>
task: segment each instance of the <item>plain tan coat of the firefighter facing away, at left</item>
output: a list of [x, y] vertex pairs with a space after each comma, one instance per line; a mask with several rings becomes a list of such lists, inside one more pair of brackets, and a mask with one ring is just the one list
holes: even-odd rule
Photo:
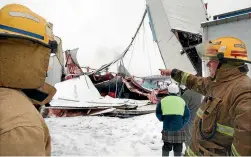
[[44, 119], [22, 92], [0, 87], [0, 156], [50, 156]]

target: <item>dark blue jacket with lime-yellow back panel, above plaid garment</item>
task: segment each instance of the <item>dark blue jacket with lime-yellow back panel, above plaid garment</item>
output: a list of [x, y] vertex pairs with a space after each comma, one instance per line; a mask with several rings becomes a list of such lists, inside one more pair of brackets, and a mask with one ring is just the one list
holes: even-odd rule
[[[170, 103], [170, 101], [168, 103], [161, 104], [161, 103], [163, 103], [163, 101], [159, 101], [157, 103], [157, 107], [156, 107], [156, 117], [159, 119], [159, 121], [163, 121], [163, 130], [164, 131], [179, 131], [185, 126], [185, 124], [190, 119], [189, 108], [187, 107], [187, 105], [185, 104], [185, 101], [181, 97], [179, 97], [179, 96], [167, 96], [167, 97], [169, 97], [169, 99], [172, 99], [171, 102], [174, 104], [168, 104], [168, 103]], [[167, 98], [167, 97], [165, 97], [165, 98]], [[184, 104], [183, 104], [184, 105], [184, 109], [183, 109], [184, 112], [182, 114], [177, 114], [177, 112], [175, 112], [175, 109], [171, 109], [171, 108], [168, 111], [169, 112], [168, 114], [166, 114], [165, 111], [163, 114], [163, 109], [162, 109], [163, 105], [170, 105], [170, 107], [175, 107], [175, 105], [177, 105], [177, 108], [179, 108], [178, 103], [181, 103], [181, 102], [184, 102]], [[173, 114], [172, 114], [172, 112], [173, 112]], [[181, 113], [182, 110], [179, 112]]]

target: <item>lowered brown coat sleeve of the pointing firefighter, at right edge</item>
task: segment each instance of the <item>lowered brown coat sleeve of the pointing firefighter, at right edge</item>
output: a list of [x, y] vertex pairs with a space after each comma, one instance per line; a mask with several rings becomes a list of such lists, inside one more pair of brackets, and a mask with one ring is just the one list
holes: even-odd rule
[[234, 156], [251, 156], [251, 89], [250, 86], [238, 87], [234, 100], [234, 140], [232, 154]]

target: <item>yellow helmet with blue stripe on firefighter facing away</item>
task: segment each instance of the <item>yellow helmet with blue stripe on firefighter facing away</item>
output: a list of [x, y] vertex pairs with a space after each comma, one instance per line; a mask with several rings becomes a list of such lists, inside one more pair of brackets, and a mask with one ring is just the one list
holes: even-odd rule
[[55, 49], [51, 24], [29, 8], [6, 5], [0, 9], [0, 19], [0, 37], [28, 39]]

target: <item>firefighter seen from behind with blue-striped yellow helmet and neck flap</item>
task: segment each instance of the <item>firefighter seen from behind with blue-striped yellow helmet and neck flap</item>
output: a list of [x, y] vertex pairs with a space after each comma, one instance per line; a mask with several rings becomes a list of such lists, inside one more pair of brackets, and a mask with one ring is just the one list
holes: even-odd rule
[[0, 8], [0, 156], [50, 156], [49, 129], [33, 104], [56, 89], [45, 83], [57, 49], [44, 18], [19, 4]]

